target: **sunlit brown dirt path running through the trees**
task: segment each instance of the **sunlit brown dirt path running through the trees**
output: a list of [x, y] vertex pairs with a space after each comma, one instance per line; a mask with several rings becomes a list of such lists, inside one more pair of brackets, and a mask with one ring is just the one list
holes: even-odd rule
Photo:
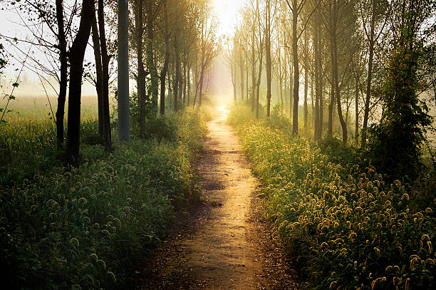
[[278, 239], [257, 212], [256, 178], [234, 130], [208, 123], [197, 163], [204, 202], [185, 212], [138, 273], [137, 289], [297, 289]]

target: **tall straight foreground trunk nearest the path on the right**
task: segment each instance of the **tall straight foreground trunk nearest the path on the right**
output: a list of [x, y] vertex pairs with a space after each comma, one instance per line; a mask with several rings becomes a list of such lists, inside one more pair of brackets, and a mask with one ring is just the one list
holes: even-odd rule
[[299, 134], [299, 88], [300, 88], [300, 71], [299, 71], [299, 50], [297, 21], [299, 14], [299, 4], [297, 0], [292, 1], [292, 57], [294, 62], [294, 108], [292, 113], [292, 135]]

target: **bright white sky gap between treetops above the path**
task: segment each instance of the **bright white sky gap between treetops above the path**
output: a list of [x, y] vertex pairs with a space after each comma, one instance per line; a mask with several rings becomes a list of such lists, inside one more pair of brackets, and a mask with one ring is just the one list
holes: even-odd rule
[[246, 0], [212, 0], [214, 12], [219, 19], [218, 33], [231, 36], [239, 20], [239, 9], [241, 9]]

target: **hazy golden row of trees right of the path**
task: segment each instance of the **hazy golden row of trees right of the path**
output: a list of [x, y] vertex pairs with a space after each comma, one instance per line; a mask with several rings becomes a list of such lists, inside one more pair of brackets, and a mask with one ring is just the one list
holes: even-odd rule
[[[234, 99], [238, 92], [241, 100], [251, 99], [257, 116], [259, 86], [266, 86], [269, 117], [271, 84], [276, 81], [279, 103], [290, 113], [294, 135], [308, 137], [308, 128], [313, 128], [314, 140], [323, 134], [332, 136], [337, 118], [343, 143], [348, 142], [354, 123], [355, 143], [365, 147], [371, 124], [388, 120], [389, 114], [398, 115], [397, 107], [389, 113], [393, 101], [394, 106], [401, 103], [408, 108], [398, 122], [415, 120], [414, 132], [398, 138], [410, 140], [414, 134], [425, 133], [430, 125], [427, 105], [436, 101], [431, 97], [435, 93], [435, 1], [251, 0], [242, 12], [237, 33], [227, 41], [227, 57]], [[412, 56], [413, 65], [409, 63]], [[405, 71], [398, 71], [403, 66], [408, 80], [400, 76]], [[262, 73], [266, 78], [262, 79]], [[398, 79], [403, 81], [392, 82]], [[398, 94], [406, 87], [412, 89], [400, 100]], [[420, 114], [421, 119], [416, 117]], [[328, 119], [326, 126], [324, 119]]]

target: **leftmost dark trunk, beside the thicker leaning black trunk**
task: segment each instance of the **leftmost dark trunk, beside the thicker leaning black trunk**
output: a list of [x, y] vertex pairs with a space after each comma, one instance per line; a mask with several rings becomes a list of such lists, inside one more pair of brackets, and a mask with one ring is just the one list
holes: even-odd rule
[[56, 139], [58, 148], [61, 148], [63, 146], [63, 118], [68, 86], [68, 55], [65, 29], [63, 27], [63, 0], [56, 0], [56, 20], [58, 23], [59, 61], [61, 63], [58, 109], [56, 110]]

